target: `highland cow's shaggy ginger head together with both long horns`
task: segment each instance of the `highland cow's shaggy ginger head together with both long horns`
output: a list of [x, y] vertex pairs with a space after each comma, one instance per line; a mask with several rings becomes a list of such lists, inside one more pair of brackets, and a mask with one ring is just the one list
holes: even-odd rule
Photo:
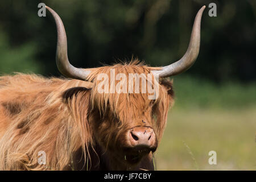
[[[119, 163], [137, 164], [158, 147], [168, 107], [173, 103], [172, 82], [164, 78], [184, 72], [195, 63], [205, 6], [196, 15], [187, 52], [175, 63], [165, 67], [147, 67], [133, 60], [129, 64], [89, 69], [75, 68], [69, 63], [63, 22], [55, 11], [47, 9], [57, 26], [56, 64], [59, 71], [66, 77], [92, 82], [88, 91], [87, 117], [94, 139]], [[133, 75], [131, 80], [130, 75]], [[136, 84], [139, 92], [136, 92]], [[148, 89], [142, 92], [143, 84], [147, 85], [146, 88], [152, 87], [152, 92]]]

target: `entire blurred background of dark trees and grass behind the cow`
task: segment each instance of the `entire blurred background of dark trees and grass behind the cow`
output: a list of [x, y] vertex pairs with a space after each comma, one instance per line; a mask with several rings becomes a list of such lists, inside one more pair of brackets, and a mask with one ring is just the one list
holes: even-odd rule
[[[158, 151], [159, 170], [256, 169], [256, 1], [0, 1], [0, 73], [60, 76], [56, 27], [44, 2], [63, 19], [76, 67], [113, 64], [133, 55], [151, 66], [180, 59], [193, 19], [201, 23], [196, 63], [174, 77], [175, 106]], [[209, 3], [217, 17], [208, 15]], [[209, 151], [217, 164], [208, 163]]]

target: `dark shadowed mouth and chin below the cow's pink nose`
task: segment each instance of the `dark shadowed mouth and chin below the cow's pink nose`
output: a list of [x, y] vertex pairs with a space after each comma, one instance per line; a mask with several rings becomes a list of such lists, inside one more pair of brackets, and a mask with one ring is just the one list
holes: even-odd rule
[[148, 148], [145, 146], [125, 148], [125, 160], [129, 164], [137, 164], [144, 156], [148, 155], [151, 151], [154, 152], [155, 150], [156, 148]]

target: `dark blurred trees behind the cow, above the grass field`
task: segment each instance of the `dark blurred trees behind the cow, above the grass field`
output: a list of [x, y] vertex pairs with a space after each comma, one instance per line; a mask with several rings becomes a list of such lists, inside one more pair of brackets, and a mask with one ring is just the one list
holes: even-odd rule
[[[42, 1], [0, 1], [0, 72], [58, 76], [56, 27], [52, 16], [39, 18]], [[187, 74], [216, 82], [256, 78], [256, 2], [203, 0], [43, 1], [63, 19], [69, 60], [96, 67], [138, 56], [152, 66], [180, 59], [193, 19], [214, 2], [217, 17], [205, 9], [199, 57]]]

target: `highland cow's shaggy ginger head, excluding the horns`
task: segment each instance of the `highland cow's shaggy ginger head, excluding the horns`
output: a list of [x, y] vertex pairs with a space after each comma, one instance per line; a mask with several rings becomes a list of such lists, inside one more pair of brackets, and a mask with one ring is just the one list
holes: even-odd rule
[[[102, 73], [105, 77], [99, 77]], [[113, 77], [115, 80], [110, 79]], [[129, 164], [137, 164], [154, 152], [173, 102], [172, 82], [158, 81], [151, 68], [137, 60], [98, 68], [90, 73], [88, 81], [93, 82], [89, 121], [100, 146], [119, 162]], [[104, 87], [107, 90], [100, 90]]]

